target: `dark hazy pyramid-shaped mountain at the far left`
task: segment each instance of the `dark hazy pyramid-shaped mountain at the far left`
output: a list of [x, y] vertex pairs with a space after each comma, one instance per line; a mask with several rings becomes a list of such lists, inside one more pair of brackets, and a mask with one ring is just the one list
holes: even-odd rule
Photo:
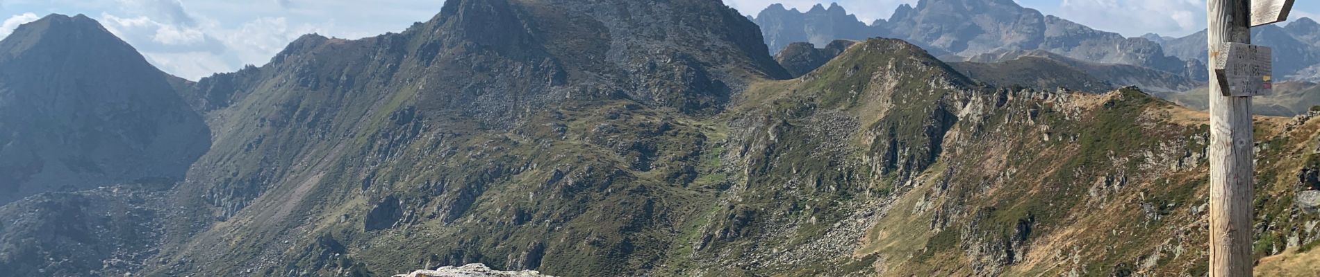
[[169, 76], [96, 21], [49, 16], [0, 41], [0, 203], [182, 180], [209, 146]]

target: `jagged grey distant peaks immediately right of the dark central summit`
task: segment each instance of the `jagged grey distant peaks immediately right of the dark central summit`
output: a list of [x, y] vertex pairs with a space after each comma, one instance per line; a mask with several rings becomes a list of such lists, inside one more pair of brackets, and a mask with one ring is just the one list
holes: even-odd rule
[[838, 3], [829, 8], [817, 4], [807, 12], [774, 4], [756, 14], [754, 21], [760, 26], [771, 53], [780, 53], [795, 42], [826, 45], [834, 39], [859, 41], [886, 34], [882, 26], [858, 21]]

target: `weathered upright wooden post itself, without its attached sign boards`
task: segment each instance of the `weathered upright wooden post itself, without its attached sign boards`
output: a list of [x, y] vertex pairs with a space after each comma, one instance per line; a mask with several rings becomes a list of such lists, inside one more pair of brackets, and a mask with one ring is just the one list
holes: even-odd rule
[[1229, 96], [1213, 68], [1224, 42], [1250, 43], [1250, 0], [1208, 0], [1210, 49], [1210, 277], [1251, 276], [1251, 97]]

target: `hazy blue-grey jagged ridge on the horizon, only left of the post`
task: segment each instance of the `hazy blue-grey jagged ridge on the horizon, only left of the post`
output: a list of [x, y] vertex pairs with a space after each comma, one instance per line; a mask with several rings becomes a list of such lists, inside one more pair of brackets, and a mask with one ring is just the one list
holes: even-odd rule
[[[921, 0], [916, 7], [899, 5], [888, 20], [876, 20], [870, 25], [857, 21], [837, 4], [829, 9], [818, 7], [805, 13], [784, 11], [783, 5], [766, 8], [756, 22], [763, 26], [771, 50], [777, 51], [791, 43], [785, 38], [809, 38], [808, 42], [824, 45], [833, 38], [892, 37], [921, 46], [945, 62], [1002, 51], [1045, 50], [1086, 62], [1133, 64], [1175, 74], [1187, 74], [1200, 64], [1166, 55], [1152, 41], [1125, 38], [1045, 16], [1012, 0]], [[801, 22], [804, 26], [783, 28], [784, 22]]]

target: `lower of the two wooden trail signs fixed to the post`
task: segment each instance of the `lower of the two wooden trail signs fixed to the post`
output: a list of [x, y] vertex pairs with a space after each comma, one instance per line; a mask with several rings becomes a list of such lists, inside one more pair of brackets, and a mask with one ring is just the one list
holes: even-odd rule
[[1272, 55], [1270, 47], [1238, 42], [1221, 43], [1212, 53], [1214, 75], [1224, 96], [1249, 97], [1267, 96], [1274, 92]]

